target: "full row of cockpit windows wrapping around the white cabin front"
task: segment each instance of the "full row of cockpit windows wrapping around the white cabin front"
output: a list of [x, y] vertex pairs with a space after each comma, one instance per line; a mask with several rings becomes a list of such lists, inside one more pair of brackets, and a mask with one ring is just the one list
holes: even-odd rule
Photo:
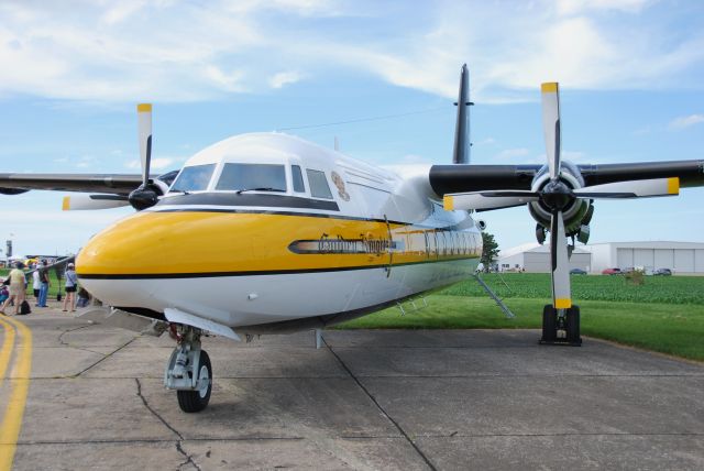
[[[306, 193], [304, 175], [299, 165], [292, 165], [294, 191]], [[208, 189], [210, 179], [216, 171], [216, 164], [193, 165], [184, 167], [172, 185], [170, 191], [190, 193]], [[326, 174], [320, 171], [306, 168], [310, 196], [314, 198], [332, 199]], [[260, 190], [286, 193], [286, 167], [275, 164], [233, 164], [226, 163], [215, 186], [217, 190]]]

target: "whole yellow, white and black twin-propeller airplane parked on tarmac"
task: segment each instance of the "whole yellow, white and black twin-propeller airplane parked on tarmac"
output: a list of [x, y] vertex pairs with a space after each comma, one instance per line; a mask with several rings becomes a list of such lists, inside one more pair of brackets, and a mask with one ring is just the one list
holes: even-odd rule
[[469, 163], [464, 65], [449, 165], [377, 167], [293, 135], [249, 133], [154, 176], [152, 106], [142, 103], [141, 175], [0, 174], [0, 194], [75, 191], [64, 209], [136, 209], [85, 244], [76, 271], [113, 317], [146, 319], [176, 341], [164, 384], [186, 413], [205, 409], [212, 391], [205, 333], [319, 329], [457, 283], [477, 266], [484, 210], [526, 206], [538, 241], [550, 233], [540, 342], [579, 346], [568, 261], [575, 239], [588, 240], [595, 199], [703, 186], [704, 161], [563, 161], [558, 84], [543, 84], [541, 97], [543, 165]]

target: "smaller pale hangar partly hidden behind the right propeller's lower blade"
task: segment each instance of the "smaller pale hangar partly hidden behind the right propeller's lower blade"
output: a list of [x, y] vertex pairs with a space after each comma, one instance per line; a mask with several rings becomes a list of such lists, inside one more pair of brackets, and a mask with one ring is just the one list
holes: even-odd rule
[[[550, 244], [539, 245], [537, 242], [526, 243], [513, 249], [504, 250], [498, 254], [497, 264], [501, 271], [550, 272]], [[570, 270], [582, 269], [590, 272], [592, 269], [592, 254], [578, 247], [570, 258]]]

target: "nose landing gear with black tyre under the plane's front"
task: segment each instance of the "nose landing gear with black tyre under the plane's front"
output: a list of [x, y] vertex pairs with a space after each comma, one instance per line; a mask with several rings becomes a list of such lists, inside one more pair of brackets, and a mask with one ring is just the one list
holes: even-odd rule
[[164, 386], [176, 390], [178, 405], [185, 413], [205, 409], [212, 392], [212, 366], [205, 350], [200, 350], [202, 331], [182, 324], [172, 324], [169, 335], [177, 346], [164, 372]]

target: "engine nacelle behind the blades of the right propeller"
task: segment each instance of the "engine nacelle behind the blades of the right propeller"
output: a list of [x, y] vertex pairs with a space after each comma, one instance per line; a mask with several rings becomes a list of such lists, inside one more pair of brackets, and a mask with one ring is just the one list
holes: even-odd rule
[[[579, 189], [584, 186], [584, 178], [579, 167], [571, 162], [562, 161], [560, 179], [572, 189]], [[536, 174], [530, 185], [532, 191], [540, 191], [550, 182], [548, 166], [543, 166]], [[543, 228], [550, 228], [551, 212], [542, 201], [532, 201], [528, 204], [530, 216]], [[588, 220], [592, 219], [594, 207], [591, 199], [574, 198], [562, 209], [564, 219], [564, 231], [568, 237], [580, 236], [581, 232], [586, 233], [588, 238]], [[583, 227], [586, 227], [583, 230]], [[584, 236], [582, 236], [584, 238]]]

